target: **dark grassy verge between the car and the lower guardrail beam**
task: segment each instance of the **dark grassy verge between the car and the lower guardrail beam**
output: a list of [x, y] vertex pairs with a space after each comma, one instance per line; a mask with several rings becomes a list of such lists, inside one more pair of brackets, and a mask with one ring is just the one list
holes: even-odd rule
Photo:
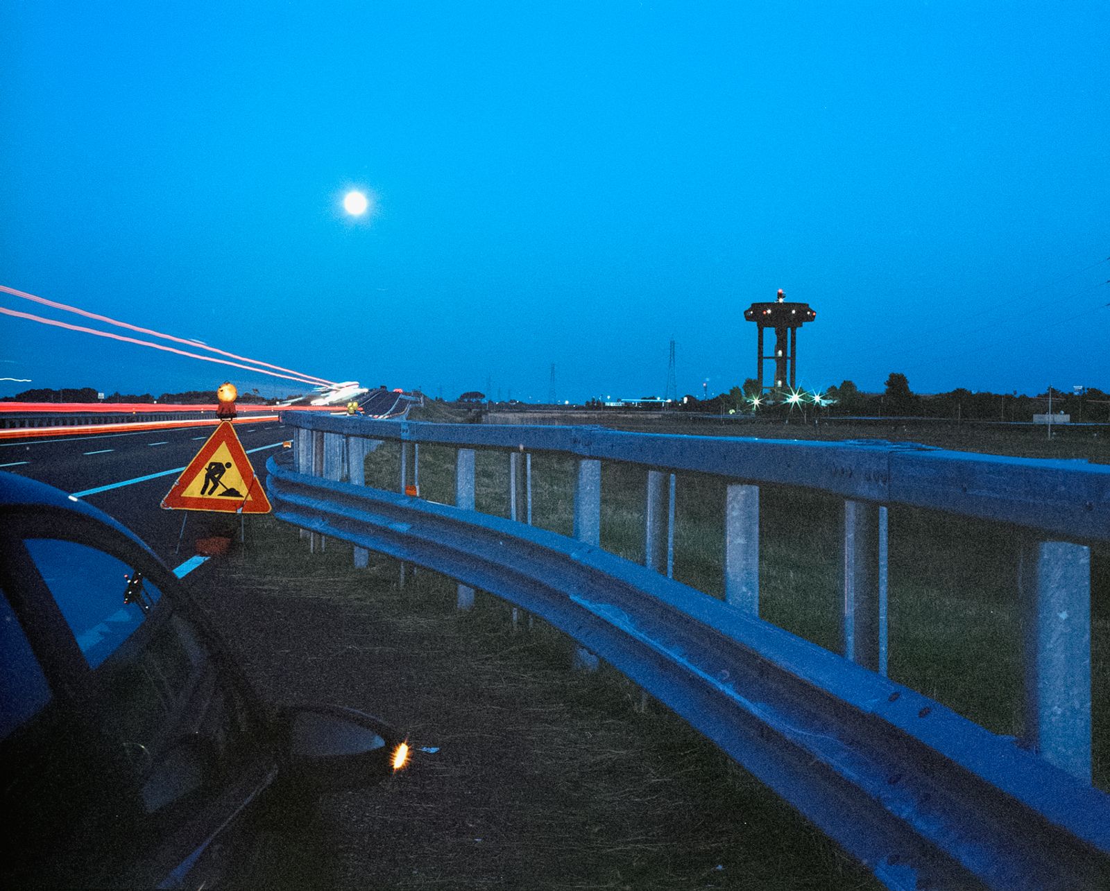
[[[330, 796], [279, 842], [272, 889], [877, 889], [820, 832], [615, 671], [432, 573], [351, 567], [329, 540], [256, 518], [245, 550], [193, 574], [254, 684], [408, 732], [412, 769]], [[208, 575], [202, 575], [208, 573]], [[214, 575], [213, 575], [214, 574]], [[195, 578], [194, 578], [195, 577]]]

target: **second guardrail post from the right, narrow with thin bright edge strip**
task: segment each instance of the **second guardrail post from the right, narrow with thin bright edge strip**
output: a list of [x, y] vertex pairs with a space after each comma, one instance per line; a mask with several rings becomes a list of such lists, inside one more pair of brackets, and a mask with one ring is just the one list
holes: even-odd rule
[[[876, 505], [844, 503], [844, 656], [879, 671], [886, 654], [887, 512]], [[884, 660], [885, 661], [885, 660]]]

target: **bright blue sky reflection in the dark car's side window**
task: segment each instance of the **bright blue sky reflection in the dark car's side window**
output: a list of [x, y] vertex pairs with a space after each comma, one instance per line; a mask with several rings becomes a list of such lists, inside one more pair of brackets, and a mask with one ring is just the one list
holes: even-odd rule
[[97, 668], [147, 618], [161, 591], [122, 560], [56, 538], [24, 540], [91, 668]]

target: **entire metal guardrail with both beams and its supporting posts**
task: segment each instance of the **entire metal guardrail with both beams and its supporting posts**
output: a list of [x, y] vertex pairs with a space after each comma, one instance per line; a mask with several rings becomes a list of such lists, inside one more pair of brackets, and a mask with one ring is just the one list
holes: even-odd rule
[[[278, 517], [519, 605], [683, 716], [890, 888], [1110, 887], [1110, 796], [1091, 778], [1090, 551], [1110, 467], [877, 443], [283, 415]], [[456, 504], [373, 489], [367, 443], [457, 448]], [[412, 448], [408, 444], [413, 444]], [[507, 454], [509, 519], [474, 510], [476, 448]], [[576, 459], [574, 538], [531, 522], [532, 453]], [[599, 547], [601, 462], [644, 467], [646, 566]], [[725, 599], [669, 578], [674, 474], [728, 482]], [[344, 482], [345, 480], [345, 482]], [[844, 498], [844, 654], [758, 618], [759, 486]], [[885, 677], [887, 507], [1025, 530], [1026, 738], [996, 736]], [[666, 571], [666, 574], [665, 574]]]

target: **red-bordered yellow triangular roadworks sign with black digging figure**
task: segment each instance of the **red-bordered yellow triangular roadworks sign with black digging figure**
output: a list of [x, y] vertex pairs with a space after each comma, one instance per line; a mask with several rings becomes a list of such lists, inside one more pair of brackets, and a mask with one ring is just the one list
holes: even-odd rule
[[168, 510], [269, 514], [270, 500], [230, 423], [215, 428], [162, 499]]

